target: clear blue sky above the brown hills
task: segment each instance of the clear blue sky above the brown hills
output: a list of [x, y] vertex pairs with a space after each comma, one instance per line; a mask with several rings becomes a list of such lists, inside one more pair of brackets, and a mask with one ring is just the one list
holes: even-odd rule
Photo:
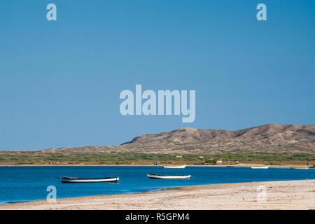
[[[195, 122], [120, 115], [120, 92], [136, 84], [196, 90]], [[314, 124], [314, 99], [312, 0], [0, 1], [0, 150]]]

